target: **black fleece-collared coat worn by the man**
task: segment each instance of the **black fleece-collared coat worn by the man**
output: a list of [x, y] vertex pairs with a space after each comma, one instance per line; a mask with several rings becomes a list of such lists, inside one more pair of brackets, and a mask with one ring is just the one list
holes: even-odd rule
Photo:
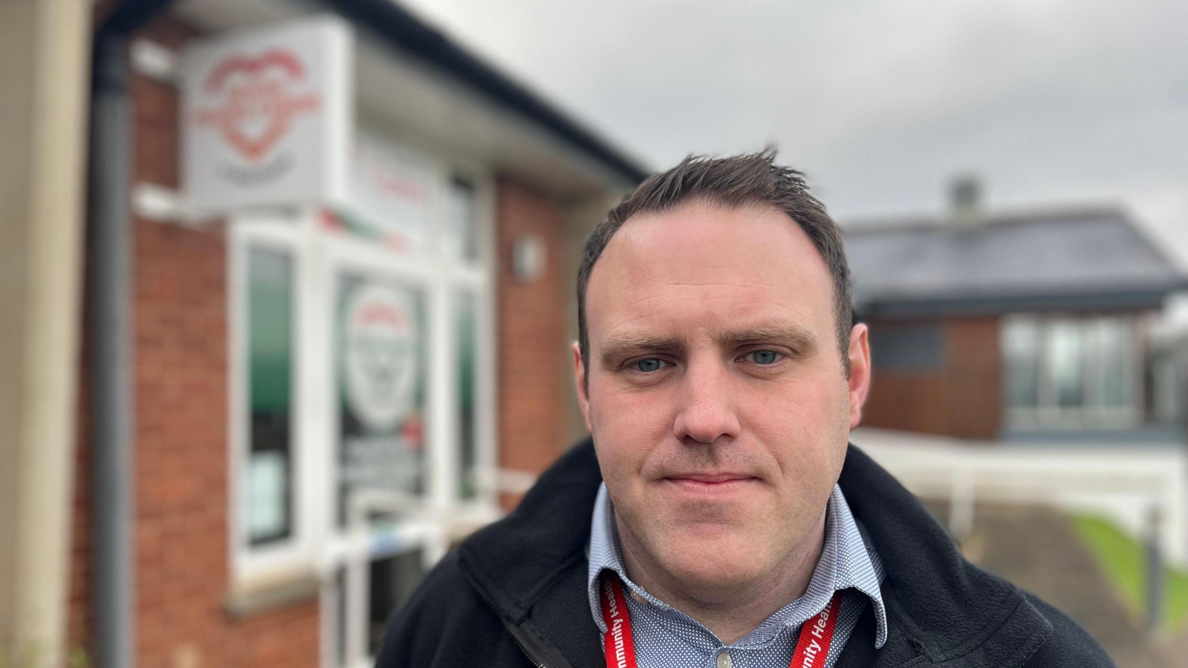
[[[387, 630], [378, 668], [605, 666], [587, 598], [586, 543], [601, 481], [589, 440], [434, 568]], [[895, 478], [854, 446], [839, 480], [886, 567], [887, 642], [871, 606], [838, 668], [1113, 666], [1055, 607], [962, 559]]]

